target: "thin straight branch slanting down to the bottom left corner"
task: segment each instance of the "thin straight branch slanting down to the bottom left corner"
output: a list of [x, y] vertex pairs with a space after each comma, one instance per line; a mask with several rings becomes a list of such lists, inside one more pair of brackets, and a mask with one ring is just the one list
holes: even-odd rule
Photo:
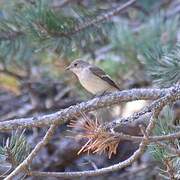
[[36, 147], [28, 155], [28, 157], [18, 167], [16, 167], [16, 169], [13, 172], [11, 172], [11, 174], [9, 174], [4, 180], [11, 180], [18, 173], [26, 170], [28, 166], [32, 163], [32, 160], [35, 158], [37, 153], [50, 141], [55, 130], [56, 125], [51, 125], [44, 138], [36, 145]]

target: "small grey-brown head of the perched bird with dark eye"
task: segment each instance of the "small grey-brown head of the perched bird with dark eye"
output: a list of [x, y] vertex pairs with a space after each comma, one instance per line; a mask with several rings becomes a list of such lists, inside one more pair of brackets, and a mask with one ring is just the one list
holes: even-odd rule
[[89, 66], [89, 63], [86, 61], [83, 61], [81, 59], [74, 60], [67, 68], [66, 70], [70, 70], [75, 74], [78, 74], [81, 72], [84, 68]]

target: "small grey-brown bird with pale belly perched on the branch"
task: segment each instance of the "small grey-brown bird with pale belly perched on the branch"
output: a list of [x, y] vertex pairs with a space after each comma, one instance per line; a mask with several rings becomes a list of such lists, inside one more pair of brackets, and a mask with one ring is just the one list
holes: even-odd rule
[[72, 71], [80, 84], [93, 95], [120, 90], [118, 85], [101, 68], [82, 59], [74, 60], [66, 70]]

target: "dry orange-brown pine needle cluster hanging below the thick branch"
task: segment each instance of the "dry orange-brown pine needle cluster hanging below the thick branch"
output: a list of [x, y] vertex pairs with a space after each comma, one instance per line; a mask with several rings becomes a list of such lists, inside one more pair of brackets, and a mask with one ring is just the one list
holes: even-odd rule
[[105, 130], [97, 118], [91, 119], [83, 114], [83, 119], [80, 122], [71, 121], [69, 126], [80, 129], [81, 133], [78, 133], [78, 139], [86, 140], [78, 154], [82, 152], [107, 153], [109, 158], [116, 154], [119, 138]]

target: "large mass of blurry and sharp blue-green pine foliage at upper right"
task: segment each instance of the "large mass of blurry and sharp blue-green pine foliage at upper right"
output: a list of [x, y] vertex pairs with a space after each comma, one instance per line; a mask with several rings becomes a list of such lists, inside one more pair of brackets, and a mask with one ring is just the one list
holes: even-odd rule
[[156, 84], [170, 86], [178, 82], [180, 74], [178, 27], [179, 16], [165, 20], [163, 13], [150, 18], [139, 29], [120, 22], [111, 34], [113, 50], [129, 69], [143, 64]]

